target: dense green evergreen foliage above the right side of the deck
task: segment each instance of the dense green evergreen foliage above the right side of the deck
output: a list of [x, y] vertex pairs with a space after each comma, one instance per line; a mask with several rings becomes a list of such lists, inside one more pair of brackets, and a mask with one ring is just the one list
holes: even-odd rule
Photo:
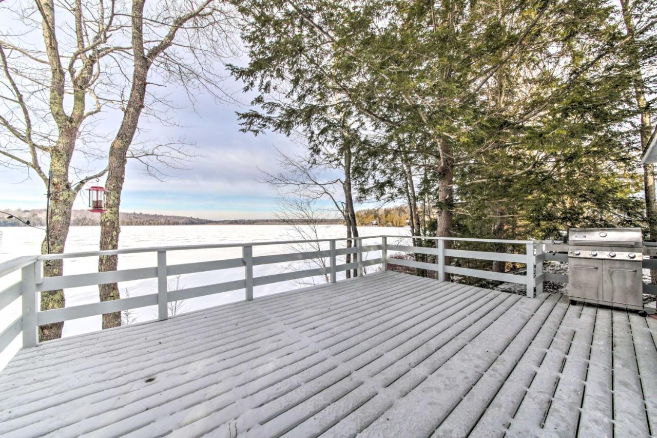
[[633, 44], [601, 0], [236, 5], [250, 63], [231, 71], [260, 93], [242, 128], [301, 133], [321, 157], [348, 143], [361, 199], [407, 202], [410, 168], [456, 235], [644, 224], [633, 75], [654, 61], [650, 2]]

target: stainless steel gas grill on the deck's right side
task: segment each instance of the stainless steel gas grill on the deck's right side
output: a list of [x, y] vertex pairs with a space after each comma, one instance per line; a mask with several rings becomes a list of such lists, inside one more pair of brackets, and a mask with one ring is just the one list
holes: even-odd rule
[[641, 228], [568, 230], [571, 300], [643, 309]]

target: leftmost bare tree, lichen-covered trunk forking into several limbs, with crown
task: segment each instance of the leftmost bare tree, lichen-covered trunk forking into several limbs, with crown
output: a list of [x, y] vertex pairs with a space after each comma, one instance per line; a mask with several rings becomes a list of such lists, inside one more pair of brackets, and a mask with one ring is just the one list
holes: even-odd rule
[[[64, 251], [78, 193], [106, 173], [87, 153], [102, 137], [93, 132], [93, 120], [104, 105], [103, 66], [124, 51], [108, 44], [122, 28], [118, 12], [113, 1], [83, 6], [81, 0], [57, 5], [36, 0], [3, 9], [21, 30], [0, 30], [0, 156], [5, 166], [26, 170], [28, 178], [35, 174], [49, 193], [42, 253]], [[43, 266], [44, 276], [60, 276], [62, 270], [62, 260]], [[64, 303], [61, 290], [41, 294], [41, 310]], [[61, 322], [41, 326], [39, 339], [60, 337], [62, 328]]]

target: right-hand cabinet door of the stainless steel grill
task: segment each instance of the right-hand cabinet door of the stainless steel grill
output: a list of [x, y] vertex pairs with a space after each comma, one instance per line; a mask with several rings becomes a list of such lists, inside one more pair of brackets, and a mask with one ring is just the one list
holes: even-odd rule
[[641, 306], [643, 266], [629, 260], [604, 260], [604, 301]]

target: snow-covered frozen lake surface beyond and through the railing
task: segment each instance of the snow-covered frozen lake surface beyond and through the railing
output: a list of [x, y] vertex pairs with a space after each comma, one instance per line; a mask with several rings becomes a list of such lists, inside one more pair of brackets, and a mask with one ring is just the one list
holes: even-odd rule
[[[362, 236], [367, 235], [409, 235], [408, 228], [379, 228], [379, 227], [362, 227], [359, 228]], [[0, 244], [0, 262], [11, 260], [12, 258], [24, 255], [37, 255], [43, 231], [26, 227], [9, 227], [0, 228], [2, 232], [2, 241]], [[321, 226], [318, 230], [320, 238], [342, 237], [345, 235], [345, 228], [341, 225]], [[76, 253], [79, 251], [96, 251], [99, 249], [99, 227], [73, 227], [68, 235], [66, 242], [66, 253]], [[292, 230], [288, 226], [277, 225], [222, 225], [222, 226], [124, 226], [121, 231], [120, 248], [139, 248], [139, 247], [161, 247], [177, 245], [200, 245], [213, 243], [248, 243], [262, 241], [286, 241], [303, 239], [298, 231]], [[365, 244], [379, 243], [378, 239], [365, 241]], [[321, 249], [328, 249], [328, 243], [322, 244]], [[299, 245], [266, 245], [254, 247], [254, 256], [271, 255], [277, 253], [288, 253], [296, 251], [313, 251], [310, 247], [301, 247]], [[222, 248], [194, 251], [171, 251], [167, 255], [168, 264], [179, 264], [189, 262], [200, 262], [207, 260], [221, 260], [225, 258], [235, 258], [242, 256], [242, 249]], [[376, 258], [380, 252], [372, 252], [367, 258]], [[338, 260], [338, 264], [340, 264]], [[344, 262], [344, 261], [342, 261]], [[67, 259], [64, 262], [64, 274], [83, 274], [87, 272], [97, 272], [98, 258], [84, 257]], [[156, 253], [138, 253], [131, 255], [121, 255], [119, 257], [119, 269], [143, 268], [156, 266]], [[289, 263], [271, 264], [254, 267], [254, 276], [263, 276], [269, 274], [278, 274], [288, 272], [290, 269], [308, 269], [317, 266], [303, 264], [299, 262], [295, 266]], [[377, 266], [371, 266], [369, 269], [376, 269]], [[344, 274], [342, 274], [344, 277]], [[7, 276], [1, 280], [0, 287], [18, 280], [18, 273], [14, 276]], [[11, 277], [11, 278], [9, 278]], [[198, 274], [187, 274], [180, 278], [170, 278], [170, 290], [183, 289], [185, 287], [196, 287], [221, 283], [223, 281], [241, 280], [244, 278], [244, 269], [235, 268], [221, 271], [202, 272]], [[340, 278], [340, 277], [338, 277]], [[294, 289], [313, 282], [322, 282], [322, 278], [311, 278], [307, 280], [283, 281], [270, 285], [263, 285], [254, 288], [256, 297], [269, 295], [281, 291]], [[156, 293], [157, 280], [139, 280], [126, 281], [119, 283], [122, 297], [129, 294], [131, 297]], [[95, 286], [76, 287], [65, 290], [66, 306], [76, 306], [79, 304], [98, 303], [98, 289]], [[219, 304], [231, 303], [244, 299], [244, 291], [232, 291], [207, 297], [185, 300], [181, 305], [180, 312], [190, 312], [200, 308], [216, 306]], [[156, 308], [154, 306], [135, 309], [131, 315], [135, 322], [142, 322], [156, 318]], [[9, 306], [9, 308], [0, 312], [0, 320], [12, 321], [20, 314], [20, 300]], [[2, 324], [4, 328], [5, 324]], [[1, 329], [1, 328], [0, 328]], [[92, 316], [89, 318], [80, 318], [64, 323], [64, 337], [77, 335], [101, 329], [101, 316]], [[0, 368], [2, 366], [0, 360]]]

